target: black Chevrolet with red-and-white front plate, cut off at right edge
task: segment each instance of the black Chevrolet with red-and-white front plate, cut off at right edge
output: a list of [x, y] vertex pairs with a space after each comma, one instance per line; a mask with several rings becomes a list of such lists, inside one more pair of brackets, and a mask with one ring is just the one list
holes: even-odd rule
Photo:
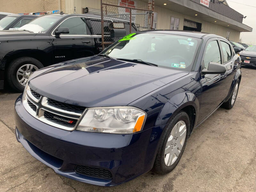
[[239, 53], [242, 65], [254, 66], [256, 67], [256, 45], [250, 45], [244, 51]]

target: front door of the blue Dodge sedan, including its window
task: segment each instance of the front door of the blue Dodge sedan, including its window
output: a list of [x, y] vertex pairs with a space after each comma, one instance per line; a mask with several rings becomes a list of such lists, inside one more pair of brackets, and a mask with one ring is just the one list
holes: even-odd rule
[[[217, 38], [208, 40], [202, 61], [202, 69], [208, 68], [210, 62], [222, 64], [222, 57], [220, 52], [220, 44]], [[201, 122], [214, 109], [216, 109], [222, 100], [222, 87], [224, 84], [223, 74], [206, 74], [201, 76], [202, 83], [202, 97], [200, 101], [200, 111], [198, 120]]]

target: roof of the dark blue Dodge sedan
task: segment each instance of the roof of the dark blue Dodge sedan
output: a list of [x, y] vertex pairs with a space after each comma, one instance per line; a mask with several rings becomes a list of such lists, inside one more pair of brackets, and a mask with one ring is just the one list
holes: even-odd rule
[[190, 37], [195, 37], [195, 38], [200, 38], [203, 39], [204, 37], [217, 37], [217, 38], [222, 38], [222, 36], [214, 35], [214, 34], [209, 34], [209, 33], [202, 33], [202, 32], [197, 32], [197, 31], [183, 31], [183, 30], [146, 30], [146, 31], [139, 31], [137, 33], [162, 33], [162, 34], [172, 34], [172, 35], [182, 35], [182, 36], [190, 36]]

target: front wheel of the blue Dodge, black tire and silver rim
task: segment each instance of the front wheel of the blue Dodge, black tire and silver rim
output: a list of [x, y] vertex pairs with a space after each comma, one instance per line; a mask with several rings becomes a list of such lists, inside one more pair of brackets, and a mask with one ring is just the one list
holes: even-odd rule
[[[183, 141], [184, 141], [181, 150], [177, 150], [177, 149], [180, 149], [180, 148], [179, 148], [179, 145], [176, 144], [176, 143], [178, 143], [178, 141], [180, 141], [181, 137], [180, 137], [180, 139], [179, 138], [175, 139], [175, 137], [171, 138], [171, 133], [175, 132], [175, 127], [176, 127], [175, 125], [178, 124], [179, 122], [183, 122], [182, 124], [186, 125], [186, 132], [181, 131], [181, 132], [183, 132], [182, 138], [183, 138]], [[155, 163], [154, 163], [154, 167], [153, 167], [154, 172], [156, 172], [158, 174], [165, 174], [165, 173], [171, 172], [177, 166], [177, 164], [179, 163], [180, 158], [183, 154], [183, 151], [185, 149], [187, 140], [188, 140], [189, 125], [190, 125], [190, 123], [189, 123], [188, 114], [184, 111], [180, 111], [178, 114], [176, 114], [172, 118], [170, 123], [166, 125], [166, 127], [164, 128], [164, 131], [162, 133], [163, 137], [160, 141], [160, 145], [159, 145], [159, 148], [158, 148], [158, 151], [157, 151], [157, 154], [156, 154], [156, 159], [155, 159]], [[172, 130], [173, 130], [173, 132], [172, 132]], [[169, 141], [168, 141], [168, 139], [169, 139]], [[170, 148], [169, 148], [169, 145], [167, 144], [167, 141], [170, 145]], [[180, 141], [180, 144], [181, 144], [181, 141]], [[170, 150], [169, 155], [165, 154], [165, 152], [168, 151], [168, 150]], [[174, 153], [174, 151], [180, 152], [179, 155], [175, 154], [172, 157], [171, 153]], [[172, 158], [170, 161], [169, 161], [169, 159], [170, 159], [169, 157]], [[168, 164], [168, 162], [169, 162], [169, 164]]]

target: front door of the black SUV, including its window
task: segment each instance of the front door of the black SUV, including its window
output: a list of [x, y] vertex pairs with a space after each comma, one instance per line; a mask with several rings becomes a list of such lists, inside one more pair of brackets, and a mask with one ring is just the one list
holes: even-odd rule
[[92, 36], [84, 17], [70, 17], [64, 20], [55, 30], [60, 27], [68, 28], [69, 33], [58, 36], [53, 31], [54, 63], [94, 55]]

